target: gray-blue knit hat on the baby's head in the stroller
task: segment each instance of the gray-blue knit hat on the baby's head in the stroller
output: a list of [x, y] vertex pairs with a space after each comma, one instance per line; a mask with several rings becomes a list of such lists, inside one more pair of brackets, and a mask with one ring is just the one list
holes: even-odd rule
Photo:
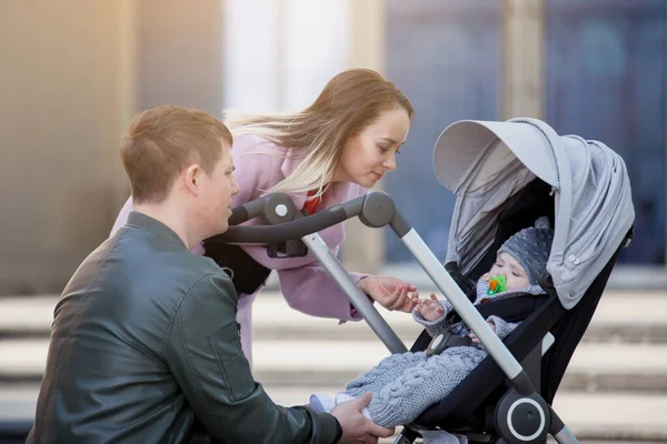
[[539, 278], [547, 271], [547, 262], [551, 253], [554, 231], [545, 216], [535, 221], [535, 226], [524, 229], [509, 238], [498, 253], [509, 253], [526, 271], [528, 282], [537, 285]]

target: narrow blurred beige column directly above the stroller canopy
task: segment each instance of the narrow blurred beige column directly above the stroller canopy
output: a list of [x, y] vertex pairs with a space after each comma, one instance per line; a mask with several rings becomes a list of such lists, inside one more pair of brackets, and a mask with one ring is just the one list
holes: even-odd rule
[[545, 0], [504, 0], [502, 114], [542, 114]]

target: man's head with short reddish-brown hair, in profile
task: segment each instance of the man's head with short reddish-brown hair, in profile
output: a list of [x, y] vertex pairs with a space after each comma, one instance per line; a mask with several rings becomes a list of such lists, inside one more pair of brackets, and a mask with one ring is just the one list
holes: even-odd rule
[[239, 191], [231, 143], [227, 127], [203, 111], [158, 107], [141, 112], [120, 147], [135, 204], [176, 199], [202, 235], [226, 231], [231, 196]]

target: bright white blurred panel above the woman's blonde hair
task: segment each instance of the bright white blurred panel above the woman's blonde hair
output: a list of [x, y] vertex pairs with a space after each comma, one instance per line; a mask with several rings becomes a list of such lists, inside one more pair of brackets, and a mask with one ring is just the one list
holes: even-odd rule
[[306, 108], [345, 69], [347, 3], [225, 0], [225, 108]]

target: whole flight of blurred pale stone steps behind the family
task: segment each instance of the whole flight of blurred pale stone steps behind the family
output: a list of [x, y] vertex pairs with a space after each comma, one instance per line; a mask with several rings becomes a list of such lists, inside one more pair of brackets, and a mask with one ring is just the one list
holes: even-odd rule
[[[33, 417], [57, 299], [0, 299], [0, 418]], [[410, 316], [380, 313], [411, 345]], [[278, 404], [336, 393], [388, 355], [365, 323], [307, 316], [275, 291], [258, 296], [253, 325], [253, 373]], [[605, 293], [554, 407], [584, 442], [667, 442], [667, 293]]]

